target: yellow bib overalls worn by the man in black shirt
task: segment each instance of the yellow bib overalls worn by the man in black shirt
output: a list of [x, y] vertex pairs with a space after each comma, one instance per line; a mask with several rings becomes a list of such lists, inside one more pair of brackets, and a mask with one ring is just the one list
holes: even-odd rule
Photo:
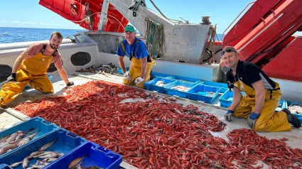
[[[254, 127], [255, 131], [291, 131], [286, 113], [284, 111], [275, 113], [275, 109], [278, 107], [282, 96], [280, 89], [277, 89], [279, 88], [279, 84], [276, 82], [275, 84], [276, 90], [266, 90], [264, 104]], [[234, 86], [245, 92], [245, 94], [242, 96], [236, 109], [234, 109], [233, 116], [247, 119], [255, 108], [255, 89], [244, 84], [241, 80], [234, 82]]]

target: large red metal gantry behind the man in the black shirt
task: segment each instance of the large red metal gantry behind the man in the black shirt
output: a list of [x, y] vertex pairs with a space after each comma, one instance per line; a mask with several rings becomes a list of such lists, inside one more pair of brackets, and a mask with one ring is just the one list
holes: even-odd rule
[[301, 0], [258, 0], [232, 27], [223, 46], [239, 50], [240, 60], [259, 65], [269, 77], [302, 82]]

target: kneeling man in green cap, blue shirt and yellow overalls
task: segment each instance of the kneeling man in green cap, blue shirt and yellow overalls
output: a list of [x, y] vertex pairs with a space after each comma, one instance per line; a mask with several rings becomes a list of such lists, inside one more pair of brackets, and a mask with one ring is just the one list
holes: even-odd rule
[[[144, 82], [150, 80], [153, 61], [148, 55], [145, 43], [136, 38], [136, 31], [133, 26], [126, 26], [125, 39], [119, 43], [117, 55], [119, 55], [119, 67], [124, 72], [123, 83], [129, 85], [135, 83], [137, 87], [144, 88]], [[125, 55], [131, 60], [129, 72], [126, 72], [125, 69]]]

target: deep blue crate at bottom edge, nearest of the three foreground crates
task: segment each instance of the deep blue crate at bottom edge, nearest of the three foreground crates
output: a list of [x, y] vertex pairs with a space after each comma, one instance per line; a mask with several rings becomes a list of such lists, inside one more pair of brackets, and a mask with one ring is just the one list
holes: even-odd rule
[[67, 169], [68, 165], [72, 167], [71, 165], [75, 165], [75, 163], [80, 163], [81, 168], [97, 166], [98, 168], [118, 169], [122, 163], [122, 156], [95, 143], [87, 142], [56, 160], [55, 163], [46, 165], [45, 168]]

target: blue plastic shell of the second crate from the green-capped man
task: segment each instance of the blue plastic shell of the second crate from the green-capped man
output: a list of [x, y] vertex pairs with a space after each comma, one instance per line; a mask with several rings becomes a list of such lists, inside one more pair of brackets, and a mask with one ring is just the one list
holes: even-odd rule
[[178, 89], [171, 89], [172, 87], [176, 87], [176, 86], [184, 86], [184, 87], [189, 87], [190, 89], [195, 87], [197, 84], [195, 83], [190, 83], [190, 82], [183, 82], [183, 81], [179, 81], [179, 80], [176, 80], [176, 82], [173, 82], [171, 84], [168, 84], [166, 86], [164, 86], [163, 88], [165, 89], [166, 91], [166, 94], [169, 94], [169, 95], [176, 95], [178, 97], [183, 97], [183, 98], [186, 98], [187, 97], [187, 92], [190, 90], [188, 89], [188, 91], [179, 91]]

